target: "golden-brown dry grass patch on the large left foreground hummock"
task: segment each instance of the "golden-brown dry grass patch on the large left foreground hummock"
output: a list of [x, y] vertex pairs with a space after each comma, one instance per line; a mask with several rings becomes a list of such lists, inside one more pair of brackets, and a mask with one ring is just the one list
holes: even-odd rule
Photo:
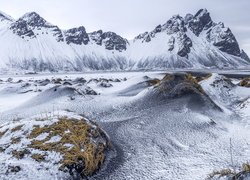
[[[104, 163], [104, 153], [108, 145], [102, 142], [94, 144], [91, 141], [91, 138], [103, 137], [104, 133], [99, 127], [93, 128], [85, 120], [62, 118], [50, 126], [36, 126], [28, 138], [34, 139], [43, 133], [48, 133], [48, 136], [44, 140], [32, 140], [29, 147], [62, 154], [60, 169], [70, 169], [82, 161], [83, 169], [80, 174], [88, 176]], [[60, 141], [46, 143], [53, 136], [60, 136]], [[68, 148], [65, 146], [66, 144], [72, 144], [73, 147]]]

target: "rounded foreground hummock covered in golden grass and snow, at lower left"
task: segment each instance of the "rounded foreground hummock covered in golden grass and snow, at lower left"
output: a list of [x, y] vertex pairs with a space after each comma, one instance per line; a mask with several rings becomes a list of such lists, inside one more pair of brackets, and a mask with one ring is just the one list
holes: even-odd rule
[[[84, 178], [102, 167], [111, 144], [96, 123], [69, 112], [42, 116], [0, 127], [0, 159], [6, 167], [6, 171], [0, 169], [0, 174], [13, 178], [31, 168], [30, 171], [44, 175], [53, 171], [56, 177], [68, 174]], [[10, 173], [11, 166], [20, 170]]]

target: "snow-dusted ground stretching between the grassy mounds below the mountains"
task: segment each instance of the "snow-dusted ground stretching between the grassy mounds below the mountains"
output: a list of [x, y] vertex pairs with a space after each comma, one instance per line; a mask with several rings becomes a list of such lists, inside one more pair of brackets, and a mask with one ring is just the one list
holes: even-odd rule
[[[149, 98], [154, 87], [148, 80], [163, 78], [163, 72], [2, 76], [0, 126], [17, 118], [73, 111], [98, 122], [116, 150], [116, 157], [92, 179], [205, 179], [232, 165], [230, 138], [234, 166], [250, 161], [250, 88], [237, 85], [237, 78], [250, 72], [223, 73], [230, 79], [213, 74], [200, 83], [223, 111], [199, 104], [193, 96]], [[34, 177], [56, 178], [41, 172]]]

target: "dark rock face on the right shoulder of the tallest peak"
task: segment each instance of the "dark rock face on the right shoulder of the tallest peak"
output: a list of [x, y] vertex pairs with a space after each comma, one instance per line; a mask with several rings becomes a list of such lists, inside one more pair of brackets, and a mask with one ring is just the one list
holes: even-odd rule
[[208, 30], [207, 40], [223, 52], [238, 57], [241, 55], [240, 47], [235, 36], [223, 23], [219, 23]]

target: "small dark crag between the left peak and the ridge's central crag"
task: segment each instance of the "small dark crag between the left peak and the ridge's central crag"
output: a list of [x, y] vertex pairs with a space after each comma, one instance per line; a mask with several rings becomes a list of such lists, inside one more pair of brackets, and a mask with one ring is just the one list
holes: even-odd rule
[[89, 36], [83, 26], [67, 30], [65, 36], [67, 44], [74, 43], [78, 45], [86, 45], [89, 42]]

